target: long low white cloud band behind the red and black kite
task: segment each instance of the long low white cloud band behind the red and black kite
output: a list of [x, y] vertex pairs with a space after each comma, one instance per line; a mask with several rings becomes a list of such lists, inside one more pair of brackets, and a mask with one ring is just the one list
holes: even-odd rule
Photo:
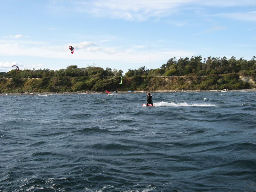
[[[39, 57], [35, 62], [40, 61], [42, 58], [58, 58], [76, 60], [101, 60], [103, 63], [108, 61], [116, 61], [120, 63], [129, 62], [132, 64], [145, 63], [149, 60], [149, 50], [145, 49], [145, 45], [133, 45], [130, 48], [126, 47], [100, 47], [96, 46], [93, 42], [81, 42], [76, 45], [82, 49], [76, 49], [74, 54], [70, 53], [67, 46], [52, 46], [52, 45], [33, 45], [33, 44], [18, 44], [18, 43], [5, 43], [0, 44], [0, 52], [3, 56], [32, 56]], [[170, 57], [184, 57], [193, 56], [193, 52], [187, 50], [170, 50], [160, 49], [159, 47], [151, 46], [152, 60], [168, 60]], [[154, 59], [153, 59], [154, 58]], [[36, 66], [35, 66], [36, 67]], [[43, 67], [37, 66], [37, 67]], [[24, 66], [24, 68], [28, 68]], [[32, 68], [32, 67], [31, 67]]]

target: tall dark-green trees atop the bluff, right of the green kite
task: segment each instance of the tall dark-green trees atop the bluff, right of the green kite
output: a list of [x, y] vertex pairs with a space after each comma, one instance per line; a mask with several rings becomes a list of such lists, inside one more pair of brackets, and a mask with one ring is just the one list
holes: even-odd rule
[[[184, 76], [193, 74], [195, 76], [207, 76], [210, 74], [228, 74], [244, 72], [244, 75], [255, 74], [256, 57], [253, 56], [251, 60], [240, 58], [237, 60], [235, 57], [227, 59], [226, 57], [208, 57], [202, 58], [201, 56], [180, 58], [173, 57], [169, 59], [160, 68], [153, 69], [151, 75], [153, 76]], [[139, 69], [129, 69], [124, 76], [141, 76], [148, 74], [149, 70], [145, 67]]]

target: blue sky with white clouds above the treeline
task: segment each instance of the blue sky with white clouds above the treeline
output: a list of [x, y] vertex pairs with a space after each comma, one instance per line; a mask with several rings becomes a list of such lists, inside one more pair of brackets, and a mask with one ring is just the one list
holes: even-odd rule
[[94, 65], [125, 73], [173, 57], [256, 56], [255, 0], [2, 0], [0, 16], [0, 72]]

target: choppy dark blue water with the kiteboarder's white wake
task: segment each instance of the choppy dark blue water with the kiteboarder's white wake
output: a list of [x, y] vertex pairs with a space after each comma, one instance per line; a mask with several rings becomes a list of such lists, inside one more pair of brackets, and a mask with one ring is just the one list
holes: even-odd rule
[[0, 96], [0, 191], [256, 191], [256, 92]]

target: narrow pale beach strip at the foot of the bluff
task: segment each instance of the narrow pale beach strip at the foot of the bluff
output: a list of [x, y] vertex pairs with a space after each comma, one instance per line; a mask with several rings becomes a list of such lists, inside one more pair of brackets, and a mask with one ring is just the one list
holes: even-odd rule
[[[175, 93], [175, 92], [253, 92], [256, 91], [255, 88], [253, 89], [239, 89], [239, 90], [157, 90], [157, 91], [120, 91], [116, 93]], [[114, 92], [110, 92], [111, 94], [116, 94]], [[1, 95], [68, 95], [68, 94], [106, 94], [105, 92], [25, 92], [25, 93], [0, 93]]]

